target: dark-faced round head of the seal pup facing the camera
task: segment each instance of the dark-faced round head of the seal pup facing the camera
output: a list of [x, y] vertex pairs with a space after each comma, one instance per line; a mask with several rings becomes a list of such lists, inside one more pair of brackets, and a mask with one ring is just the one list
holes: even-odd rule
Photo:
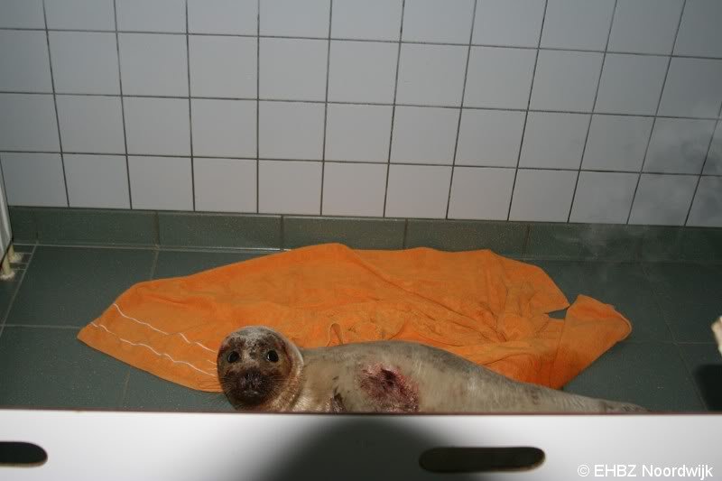
[[302, 366], [298, 347], [263, 326], [229, 334], [218, 349], [218, 380], [236, 410], [284, 409], [297, 392]]

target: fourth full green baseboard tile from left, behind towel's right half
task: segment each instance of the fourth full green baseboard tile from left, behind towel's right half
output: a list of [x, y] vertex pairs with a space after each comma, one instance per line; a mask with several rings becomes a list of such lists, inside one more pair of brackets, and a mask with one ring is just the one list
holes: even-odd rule
[[432, 247], [445, 251], [491, 249], [497, 254], [520, 256], [528, 225], [521, 222], [409, 219], [406, 247]]

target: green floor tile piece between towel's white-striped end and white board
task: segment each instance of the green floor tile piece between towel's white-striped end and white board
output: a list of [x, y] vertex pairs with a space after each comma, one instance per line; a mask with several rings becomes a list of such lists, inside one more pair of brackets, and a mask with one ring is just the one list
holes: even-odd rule
[[140, 411], [234, 411], [223, 393], [196, 391], [134, 368], [122, 407]]

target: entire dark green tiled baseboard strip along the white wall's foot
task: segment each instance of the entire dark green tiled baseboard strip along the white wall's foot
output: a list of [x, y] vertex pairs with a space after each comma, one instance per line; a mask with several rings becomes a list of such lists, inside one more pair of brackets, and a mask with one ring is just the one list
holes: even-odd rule
[[722, 262], [722, 228], [10, 208], [15, 243], [282, 249], [491, 249], [526, 259]]

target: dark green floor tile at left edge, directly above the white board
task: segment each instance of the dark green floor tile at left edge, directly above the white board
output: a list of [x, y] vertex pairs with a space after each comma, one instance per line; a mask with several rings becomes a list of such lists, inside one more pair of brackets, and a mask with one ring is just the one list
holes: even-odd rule
[[0, 336], [0, 405], [119, 406], [128, 366], [81, 343], [76, 329], [10, 328]]

